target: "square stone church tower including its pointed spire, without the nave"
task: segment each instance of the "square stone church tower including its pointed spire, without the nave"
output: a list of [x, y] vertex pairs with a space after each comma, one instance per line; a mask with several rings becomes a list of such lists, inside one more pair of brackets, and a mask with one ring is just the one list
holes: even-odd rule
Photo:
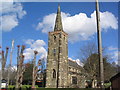
[[63, 31], [58, 5], [54, 31], [49, 32], [46, 88], [68, 86], [68, 34]]

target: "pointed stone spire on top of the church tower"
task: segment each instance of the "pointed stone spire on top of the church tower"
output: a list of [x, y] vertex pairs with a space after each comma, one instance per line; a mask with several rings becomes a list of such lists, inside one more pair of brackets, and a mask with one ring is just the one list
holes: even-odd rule
[[55, 27], [54, 27], [54, 31], [57, 31], [57, 30], [62, 30], [63, 31], [60, 5], [58, 5], [58, 11], [57, 11]]

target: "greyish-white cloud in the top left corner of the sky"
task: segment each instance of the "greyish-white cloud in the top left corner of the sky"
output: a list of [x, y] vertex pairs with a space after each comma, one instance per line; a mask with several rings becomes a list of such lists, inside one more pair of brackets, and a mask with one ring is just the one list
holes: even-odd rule
[[18, 26], [19, 20], [26, 15], [21, 3], [15, 3], [13, 0], [0, 3], [0, 27], [2, 31], [11, 31]]

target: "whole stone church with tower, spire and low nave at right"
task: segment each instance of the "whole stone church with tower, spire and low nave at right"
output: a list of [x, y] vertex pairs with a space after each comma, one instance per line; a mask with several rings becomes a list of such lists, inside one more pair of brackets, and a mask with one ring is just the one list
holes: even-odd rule
[[63, 30], [60, 5], [54, 31], [48, 35], [46, 88], [84, 88], [84, 69], [68, 59], [68, 34]]

